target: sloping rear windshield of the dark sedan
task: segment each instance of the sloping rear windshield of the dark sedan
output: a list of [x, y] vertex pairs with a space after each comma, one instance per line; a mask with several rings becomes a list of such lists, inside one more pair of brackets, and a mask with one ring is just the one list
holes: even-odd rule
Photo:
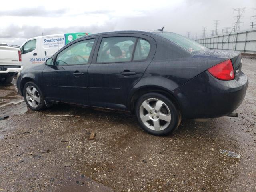
[[195, 42], [189, 38], [178, 35], [176, 33], [155, 32], [155, 34], [158, 34], [158, 35], [162, 36], [163, 38], [170, 40], [171, 42], [181, 46], [182, 48], [188, 50], [189, 52], [197, 52], [197, 51], [208, 49], [207, 47], [199, 44], [198, 42]]

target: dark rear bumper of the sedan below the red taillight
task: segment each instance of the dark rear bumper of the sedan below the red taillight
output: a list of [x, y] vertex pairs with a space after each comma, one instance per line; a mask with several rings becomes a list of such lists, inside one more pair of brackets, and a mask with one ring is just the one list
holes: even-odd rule
[[236, 110], [246, 94], [248, 78], [241, 72], [238, 80], [222, 81], [208, 71], [174, 90], [183, 118], [214, 118]]

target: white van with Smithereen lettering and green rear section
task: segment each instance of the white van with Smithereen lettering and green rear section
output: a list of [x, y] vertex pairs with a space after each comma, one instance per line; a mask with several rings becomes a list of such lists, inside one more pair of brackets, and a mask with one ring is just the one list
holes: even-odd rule
[[30, 38], [20, 46], [24, 68], [44, 63], [55, 52], [76, 38], [89, 33], [63, 33]]

